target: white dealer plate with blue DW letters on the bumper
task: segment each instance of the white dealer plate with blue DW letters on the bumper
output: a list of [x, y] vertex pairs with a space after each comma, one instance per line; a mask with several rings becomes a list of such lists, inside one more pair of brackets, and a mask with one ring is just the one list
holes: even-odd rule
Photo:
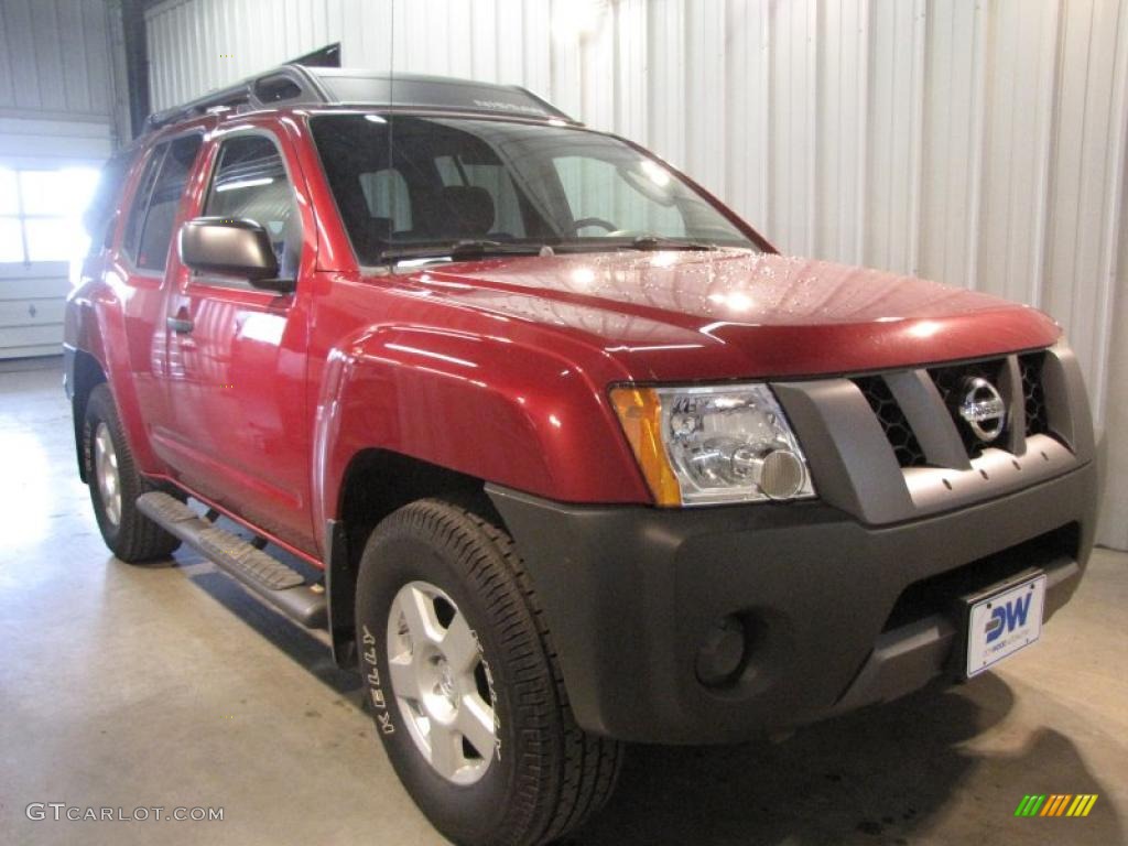
[[968, 615], [968, 678], [1025, 649], [1042, 633], [1046, 575], [980, 599]]

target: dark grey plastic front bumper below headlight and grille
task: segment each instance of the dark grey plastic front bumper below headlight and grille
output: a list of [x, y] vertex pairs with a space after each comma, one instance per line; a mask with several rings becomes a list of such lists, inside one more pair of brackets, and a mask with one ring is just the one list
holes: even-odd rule
[[[746, 739], [906, 694], [960, 651], [959, 596], [1029, 566], [1049, 618], [1093, 544], [1093, 461], [945, 513], [873, 526], [826, 502], [699, 510], [565, 505], [487, 486], [521, 553], [588, 731], [638, 742]], [[748, 661], [723, 689], [695, 666], [735, 614]]]

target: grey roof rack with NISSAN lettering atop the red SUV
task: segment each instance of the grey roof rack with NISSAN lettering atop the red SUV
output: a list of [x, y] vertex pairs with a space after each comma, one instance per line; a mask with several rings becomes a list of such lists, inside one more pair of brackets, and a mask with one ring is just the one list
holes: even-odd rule
[[247, 112], [279, 106], [340, 105], [389, 109], [509, 115], [579, 122], [519, 86], [475, 82], [450, 77], [385, 74], [349, 68], [307, 68], [284, 64], [183, 106], [157, 112], [146, 120], [144, 132], [199, 117], [219, 109]]

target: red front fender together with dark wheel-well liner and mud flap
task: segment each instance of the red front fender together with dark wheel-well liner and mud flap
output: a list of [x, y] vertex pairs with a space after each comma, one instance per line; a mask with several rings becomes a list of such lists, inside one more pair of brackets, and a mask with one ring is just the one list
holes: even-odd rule
[[329, 631], [342, 666], [355, 660], [356, 562], [397, 508], [469, 496], [501, 525], [486, 483], [564, 502], [650, 502], [605, 391], [624, 374], [600, 355], [575, 364], [537, 337], [545, 343], [382, 325], [326, 354], [311, 510], [325, 532]]

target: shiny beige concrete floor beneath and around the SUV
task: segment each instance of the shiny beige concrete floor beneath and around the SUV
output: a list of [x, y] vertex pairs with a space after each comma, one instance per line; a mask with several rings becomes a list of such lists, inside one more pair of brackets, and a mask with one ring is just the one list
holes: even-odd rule
[[[129, 566], [74, 470], [56, 361], [0, 372], [0, 844], [443, 840], [324, 645], [190, 554]], [[634, 748], [574, 844], [1123, 844], [1128, 556], [997, 672], [779, 743]], [[1086, 819], [1015, 819], [1096, 793]], [[222, 821], [30, 821], [32, 802]]]

